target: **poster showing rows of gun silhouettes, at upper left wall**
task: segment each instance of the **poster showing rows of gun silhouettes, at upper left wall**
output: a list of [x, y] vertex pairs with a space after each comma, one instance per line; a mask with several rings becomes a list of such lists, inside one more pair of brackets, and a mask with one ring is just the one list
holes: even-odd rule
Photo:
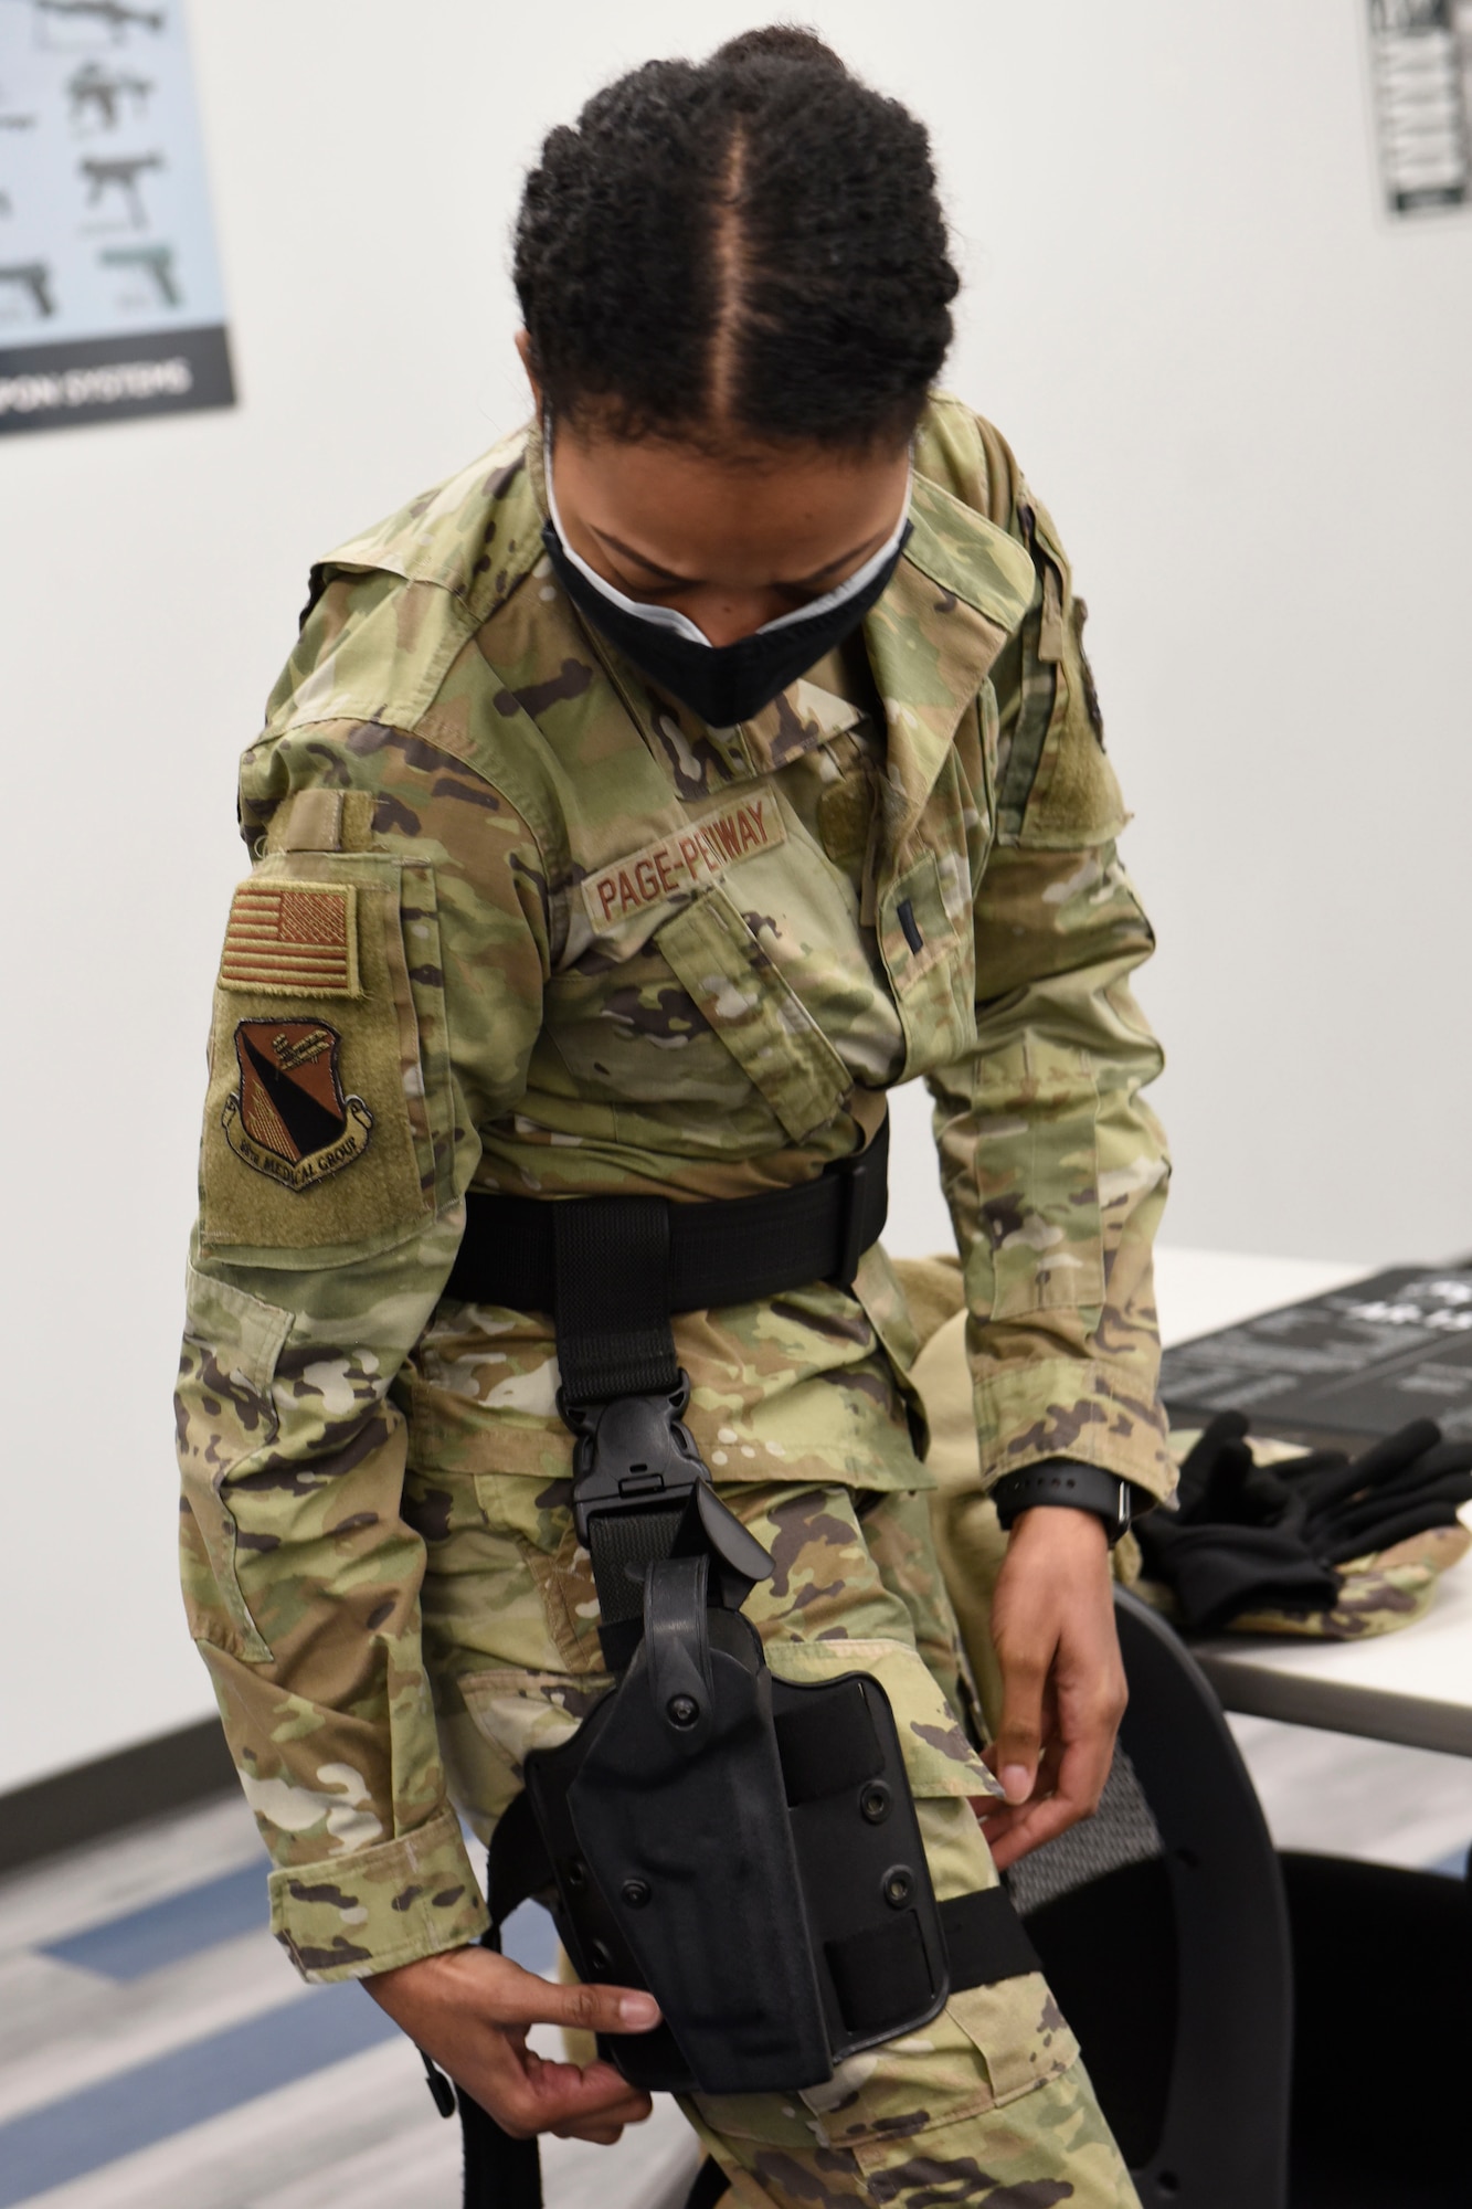
[[0, 0], [0, 435], [232, 404], [183, 0]]

